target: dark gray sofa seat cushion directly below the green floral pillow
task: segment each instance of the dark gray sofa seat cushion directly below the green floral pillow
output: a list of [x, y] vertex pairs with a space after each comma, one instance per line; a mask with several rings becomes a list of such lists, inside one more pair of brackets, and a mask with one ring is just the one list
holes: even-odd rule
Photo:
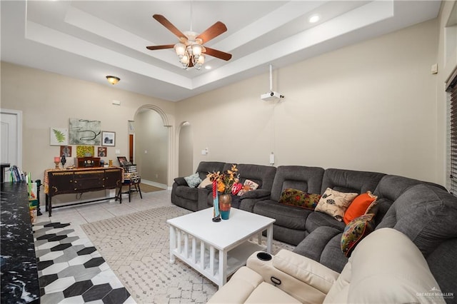
[[256, 203], [253, 211], [261, 216], [274, 218], [276, 220], [275, 225], [297, 230], [305, 230], [306, 218], [310, 213], [313, 213], [311, 210], [286, 206], [269, 200]]

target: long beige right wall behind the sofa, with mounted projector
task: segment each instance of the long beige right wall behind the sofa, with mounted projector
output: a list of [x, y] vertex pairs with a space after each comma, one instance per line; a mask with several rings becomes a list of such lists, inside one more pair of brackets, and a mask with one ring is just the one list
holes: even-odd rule
[[[380, 171], [441, 182], [436, 146], [438, 21], [428, 21], [181, 101], [200, 161]], [[208, 147], [209, 154], [199, 151]]]

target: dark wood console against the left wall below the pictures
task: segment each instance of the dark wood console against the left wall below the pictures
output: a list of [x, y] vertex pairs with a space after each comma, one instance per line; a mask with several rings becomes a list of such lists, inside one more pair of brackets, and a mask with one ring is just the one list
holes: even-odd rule
[[[76, 168], [67, 170], [46, 170], [44, 172], [44, 193], [46, 193], [46, 211], [51, 216], [52, 197], [59, 194], [84, 193], [101, 191], [105, 189], [122, 189], [124, 169], [118, 167], [109, 168]], [[116, 193], [116, 191], [114, 191]], [[116, 198], [113, 196], [112, 198]], [[95, 201], [106, 201], [110, 198], [100, 198], [92, 201], [69, 203], [54, 206], [54, 208], [92, 203]], [[122, 203], [122, 198], [119, 199]]]

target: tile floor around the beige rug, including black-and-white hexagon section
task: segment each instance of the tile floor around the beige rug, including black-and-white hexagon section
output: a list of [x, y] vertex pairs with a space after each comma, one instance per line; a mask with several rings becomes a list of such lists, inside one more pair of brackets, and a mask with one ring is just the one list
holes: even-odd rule
[[135, 303], [96, 251], [81, 225], [149, 208], [170, 206], [170, 191], [132, 195], [123, 200], [88, 203], [43, 212], [34, 223], [41, 303]]

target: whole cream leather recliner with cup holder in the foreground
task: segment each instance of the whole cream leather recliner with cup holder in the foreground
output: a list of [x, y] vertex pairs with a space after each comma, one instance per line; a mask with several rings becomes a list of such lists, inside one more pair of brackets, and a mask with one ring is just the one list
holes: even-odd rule
[[381, 228], [361, 240], [341, 274], [288, 250], [271, 260], [254, 253], [209, 303], [445, 303], [443, 295], [416, 245]]

